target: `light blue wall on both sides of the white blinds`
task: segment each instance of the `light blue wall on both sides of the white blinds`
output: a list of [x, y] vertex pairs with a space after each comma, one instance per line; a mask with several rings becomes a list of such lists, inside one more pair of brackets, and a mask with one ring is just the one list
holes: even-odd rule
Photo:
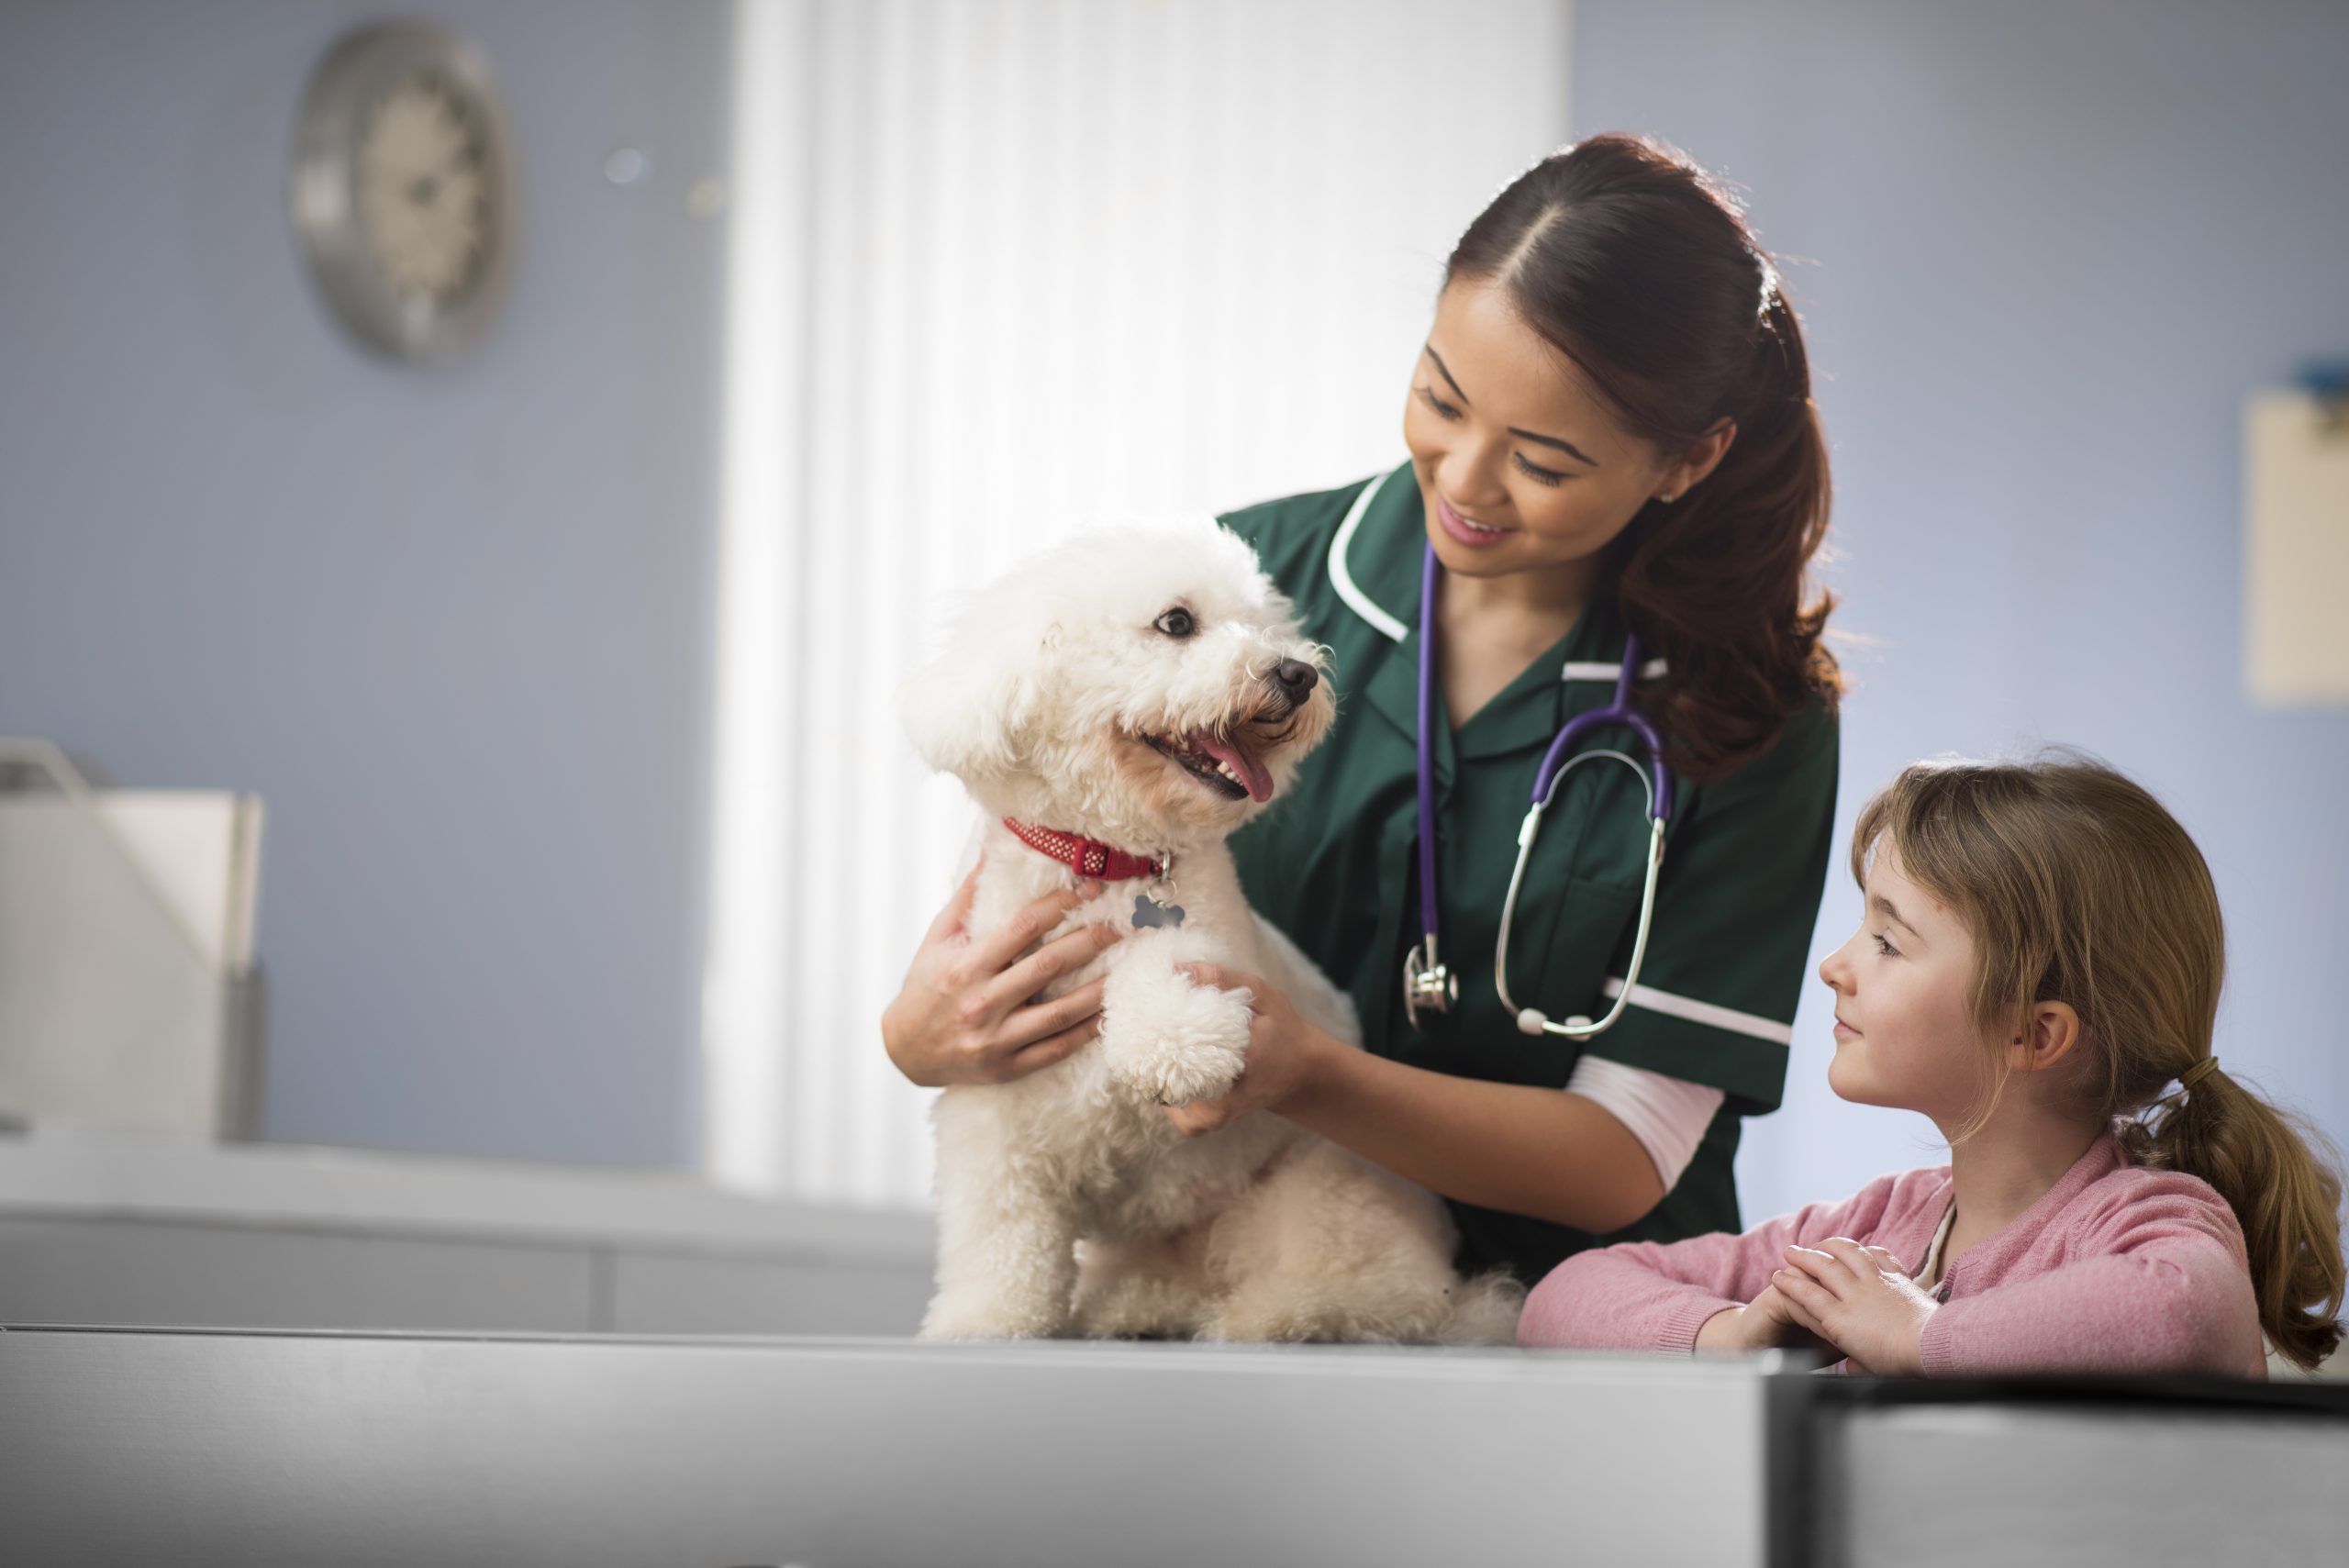
[[[526, 249], [435, 376], [331, 329], [282, 216], [371, 7], [0, 9], [0, 730], [268, 798], [275, 1136], [693, 1155], [726, 9], [437, 9]], [[1943, 749], [2128, 768], [2227, 899], [2220, 1054], [2349, 1138], [2349, 716], [2241, 697], [2236, 437], [2349, 354], [2344, 77], [2349, 12], [2276, 0], [1576, 5], [1576, 129], [1680, 141], [1790, 258], [1875, 638], [1844, 822]], [[1818, 951], [1853, 920], [1830, 878]], [[1832, 1101], [1825, 1023], [1752, 1214], [1938, 1157]]]

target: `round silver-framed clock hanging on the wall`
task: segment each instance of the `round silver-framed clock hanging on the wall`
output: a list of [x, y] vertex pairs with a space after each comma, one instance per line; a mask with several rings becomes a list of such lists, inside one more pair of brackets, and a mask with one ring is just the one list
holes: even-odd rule
[[369, 347], [446, 359], [479, 338], [512, 258], [512, 155], [479, 52], [413, 23], [336, 45], [303, 106], [294, 225]]

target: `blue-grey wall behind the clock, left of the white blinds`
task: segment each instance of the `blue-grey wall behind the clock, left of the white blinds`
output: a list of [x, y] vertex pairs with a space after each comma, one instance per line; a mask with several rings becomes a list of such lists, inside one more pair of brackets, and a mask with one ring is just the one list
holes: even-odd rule
[[688, 1162], [731, 12], [432, 12], [512, 103], [524, 249], [418, 373], [282, 202], [381, 7], [0, 9], [0, 732], [265, 796], [272, 1136]]

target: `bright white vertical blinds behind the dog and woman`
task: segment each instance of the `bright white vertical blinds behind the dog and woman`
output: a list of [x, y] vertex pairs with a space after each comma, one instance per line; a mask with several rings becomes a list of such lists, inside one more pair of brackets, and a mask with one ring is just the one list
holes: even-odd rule
[[1085, 519], [1400, 458], [1442, 256], [1567, 124], [1557, 0], [745, 0], [707, 1164], [928, 1197], [876, 1019], [970, 807], [893, 690]]

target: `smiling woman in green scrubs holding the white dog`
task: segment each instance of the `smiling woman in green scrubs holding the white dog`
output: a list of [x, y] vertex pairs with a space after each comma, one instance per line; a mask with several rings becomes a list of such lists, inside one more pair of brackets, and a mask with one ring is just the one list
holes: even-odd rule
[[[1828, 458], [1802, 329], [1701, 171], [1651, 143], [1583, 141], [1452, 251], [1402, 437], [1412, 460], [1391, 474], [1224, 519], [1332, 648], [1339, 697], [1332, 739], [1233, 852], [1257, 911], [1353, 993], [1369, 1049], [1254, 976], [1207, 969], [1257, 998], [1247, 1073], [1167, 1115], [1186, 1131], [1250, 1110], [1311, 1127], [1442, 1192], [1463, 1268], [1527, 1282], [1602, 1239], [1738, 1230], [1738, 1124], [1785, 1082], [1835, 817], [1842, 681], [1820, 646], [1830, 601], [1806, 599]], [[1426, 744], [1459, 995], [1414, 1019], [1431, 545]], [[1626, 631], [1630, 699], [1675, 779], [1644, 965], [1604, 1033], [1525, 1033], [1492, 965], [1517, 824], [1560, 728], [1614, 699]], [[1644, 805], [1609, 761], [1557, 791], [1515, 901], [1517, 1007], [1600, 1019], [1621, 993]], [[883, 1016], [907, 1077], [1017, 1077], [1092, 1035], [1099, 986], [1029, 1007], [1038, 960], [1015, 962], [1073, 897], [987, 951], [961, 939], [958, 906], [940, 915]], [[1099, 941], [1043, 953], [1059, 969]]]

